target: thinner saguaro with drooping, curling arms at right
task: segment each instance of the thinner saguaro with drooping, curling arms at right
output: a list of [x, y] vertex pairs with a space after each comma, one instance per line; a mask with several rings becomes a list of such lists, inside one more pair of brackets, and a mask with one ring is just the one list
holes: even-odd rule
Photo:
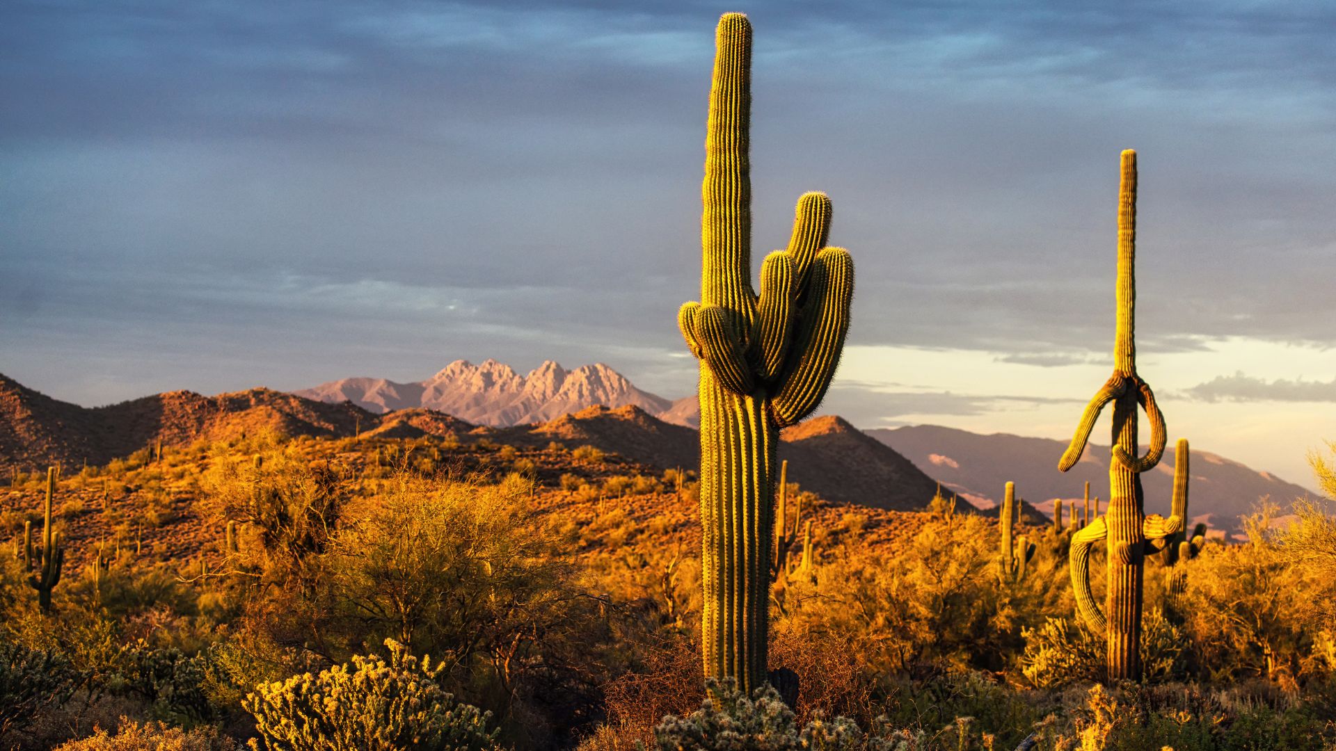
[[[1145, 494], [1140, 473], [1160, 462], [1165, 449], [1165, 420], [1156, 397], [1137, 374], [1136, 313], [1136, 234], [1137, 234], [1137, 152], [1122, 152], [1118, 187], [1118, 282], [1117, 327], [1113, 343], [1113, 376], [1086, 405], [1075, 436], [1058, 462], [1066, 472], [1081, 460], [1090, 430], [1104, 406], [1113, 402], [1113, 458], [1109, 461], [1109, 510], [1071, 540], [1069, 568], [1077, 613], [1086, 627], [1108, 633], [1108, 679], [1141, 679], [1141, 584], [1146, 540], [1164, 539], [1180, 528], [1182, 518], [1145, 514]], [[1150, 421], [1150, 448], [1137, 457], [1137, 405]], [[1108, 539], [1108, 589], [1105, 609], [1090, 593], [1090, 547]], [[1108, 617], [1105, 616], [1108, 613]]]

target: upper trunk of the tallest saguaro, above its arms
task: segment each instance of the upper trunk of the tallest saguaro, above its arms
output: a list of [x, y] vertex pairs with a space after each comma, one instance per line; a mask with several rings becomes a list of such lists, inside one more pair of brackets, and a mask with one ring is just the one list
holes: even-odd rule
[[727, 307], [748, 325], [756, 306], [751, 290], [751, 48], [747, 16], [719, 19], [700, 215], [700, 302]]

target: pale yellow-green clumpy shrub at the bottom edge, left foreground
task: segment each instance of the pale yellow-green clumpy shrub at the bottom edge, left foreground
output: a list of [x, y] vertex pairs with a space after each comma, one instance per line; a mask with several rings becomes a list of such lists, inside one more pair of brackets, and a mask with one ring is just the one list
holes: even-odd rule
[[[319, 675], [261, 684], [243, 700], [270, 751], [485, 750], [496, 747], [490, 712], [461, 704], [437, 684], [445, 663], [418, 660], [387, 639], [389, 661], [354, 656]], [[258, 744], [257, 744], [258, 746]]]

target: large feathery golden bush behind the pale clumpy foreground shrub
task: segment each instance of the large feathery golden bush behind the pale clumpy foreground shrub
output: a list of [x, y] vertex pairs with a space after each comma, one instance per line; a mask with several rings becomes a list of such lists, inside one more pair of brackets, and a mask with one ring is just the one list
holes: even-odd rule
[[[349, 506], [313, 611], [326, 653], [393, 637], [448, 661], [446, 687], [533, 739], [595, 711], [609, 629], [577, 583], [574, 540], [529, 504], [533, 484], [401, 476]], [[541, 744], [534, 742], [536, 744]]]

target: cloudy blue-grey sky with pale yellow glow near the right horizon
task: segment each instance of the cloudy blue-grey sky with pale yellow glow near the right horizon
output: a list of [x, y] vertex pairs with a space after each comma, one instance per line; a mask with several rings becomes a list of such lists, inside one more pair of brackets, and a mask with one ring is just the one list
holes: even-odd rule
[[[1312, 485], [1336, 440], [1329, 3], [0, 4], [0, 373], [111, 404], [605, 362], [676, 398], [724, 11], [754, 257], [835, 204], [824, 409], [1066, 437], [1112, 367], [1170, 441]], [[1097, 436], [1104, 436], [1100, 428]], [[1057, 457], [1054, 457], [1054, 462]]]

